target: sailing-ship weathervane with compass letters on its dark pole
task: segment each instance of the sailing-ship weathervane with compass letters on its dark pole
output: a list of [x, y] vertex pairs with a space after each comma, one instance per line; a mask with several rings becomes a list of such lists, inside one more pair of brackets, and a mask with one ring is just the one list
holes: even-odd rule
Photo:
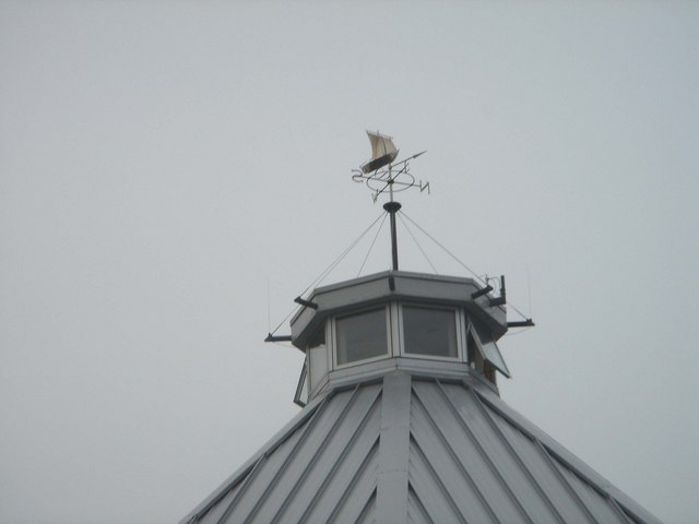
[[391, 255], [393, 271], [398, 271], [395, 213], [401, 209], [401, 203], [393, 200], [393, 193], [411, 188], [419, 188], [420, 193], [427, 190], [427, 194], [429, 194], [429, 182], [416, 181], [415, 177], [411, 175], [411, 166], [408, 164], [408, 160], [417, 158], [426, 151], [393, 163], [399, 153], [393, 144], [393, 139], [378, 131], [376, 133], [367, 131], [367, 134], [369, 135], [369, 142], [371, 142], [371, 158], [359, 166], [359, 169], [352, 170], [352, 180], [357, 183], [366, 183], [371, 190], [371, 199], [375, 203], [388, 190], [389, 201], [383, 204], [383, 209], [391, 215]]

